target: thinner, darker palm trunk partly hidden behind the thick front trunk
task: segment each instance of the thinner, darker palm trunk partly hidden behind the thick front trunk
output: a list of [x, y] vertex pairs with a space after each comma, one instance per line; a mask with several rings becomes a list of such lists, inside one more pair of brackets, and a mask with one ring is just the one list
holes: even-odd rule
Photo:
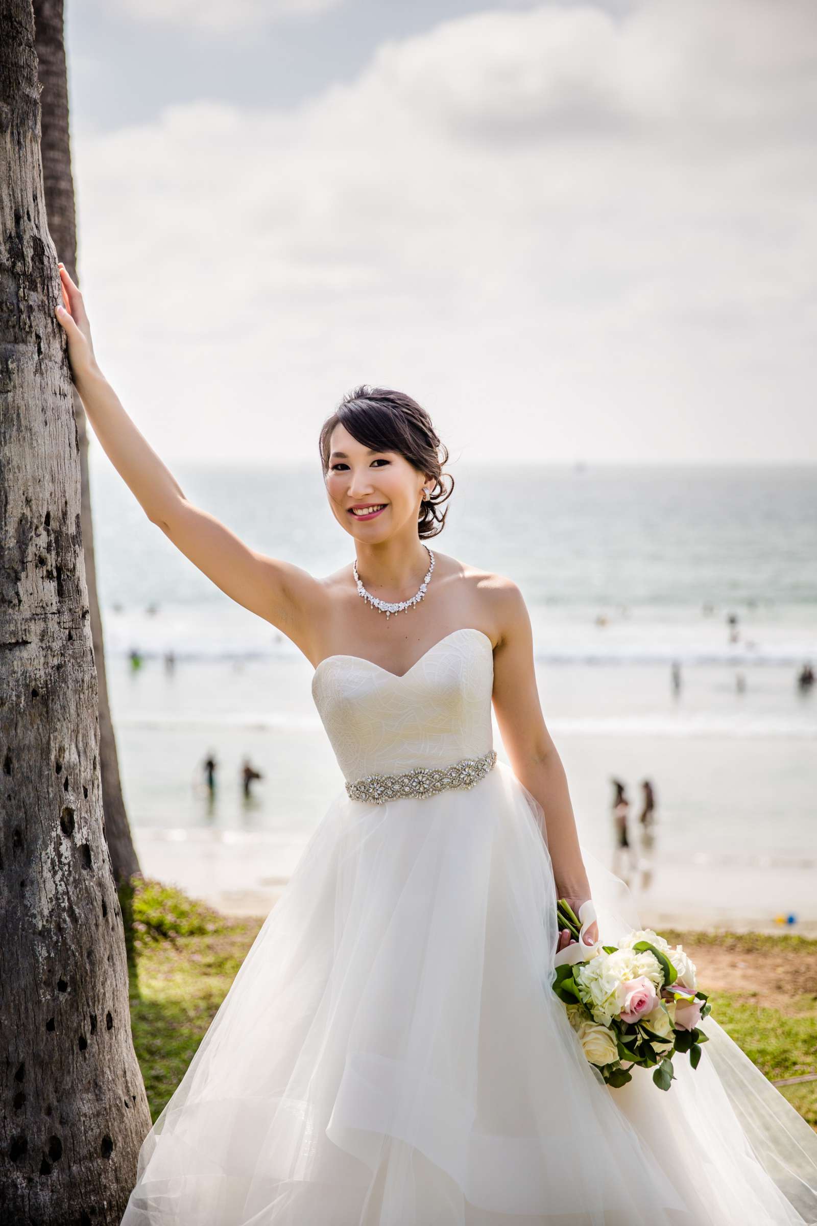
[[[58, 259], [77, 277], [77, 230], [71, 173], [71, 143], [69, 128], [69, 83], [65, 65], [62, 0], [34, 0], [34, 38], [37, 48], [40, 94], [40, 153], [43, 159], [43, 186], [48, 229], [56, 248]], [[76, 389], [73, 389], [73, 414], [80, 434], [80, 467], [82, 473], [82, 548], [85, 573], [88, 585], [91, 611], [91, 638], [97, 663], [99, 689], [99, 770], [102, 775], [102, 801], [105, 813], [105, 839], [110, 852], [116, 883], [141, 875], [131, 830], [125, 810], [122, 786], [119, 777], [116, 738], [108, 704], [108, 678], [105, 676], [105, 649], [97, 598], [97, 564], [93, 548], [93, 521], [91, 517], [91, 483], [88, 479], [88, 429]]]

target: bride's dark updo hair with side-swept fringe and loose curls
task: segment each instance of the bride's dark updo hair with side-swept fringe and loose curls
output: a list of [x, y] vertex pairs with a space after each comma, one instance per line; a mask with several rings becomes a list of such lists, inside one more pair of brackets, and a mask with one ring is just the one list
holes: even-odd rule
[[[418, 532], [420, 539], [439, 536], [448, 514], [448, 508], [440, 511], [439, 506], [451, 498], [454, 478], [442, 472], [442, 465], [448, 462], [448, 449], [440, 443], [426, 411], [410, 396], [390, 387], [361, 384], [347, 392], [321, 427], [318, 450], [325, 478], [329, 467], [332, 430], [338, 424], [364, 447], [398, 451], [418, 472], [435, 478], [430, 495], [420, 503]], [[443, 481], [451, 484], [446, 488]]]

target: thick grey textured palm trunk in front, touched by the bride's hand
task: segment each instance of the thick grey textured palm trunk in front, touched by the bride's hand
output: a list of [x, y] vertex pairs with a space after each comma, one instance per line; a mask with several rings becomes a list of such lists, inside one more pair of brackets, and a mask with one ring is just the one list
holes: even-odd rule
[[149, 1113], [103, 832], [31, 0], [0, 0], [0, 1221], [118, 1226]]

